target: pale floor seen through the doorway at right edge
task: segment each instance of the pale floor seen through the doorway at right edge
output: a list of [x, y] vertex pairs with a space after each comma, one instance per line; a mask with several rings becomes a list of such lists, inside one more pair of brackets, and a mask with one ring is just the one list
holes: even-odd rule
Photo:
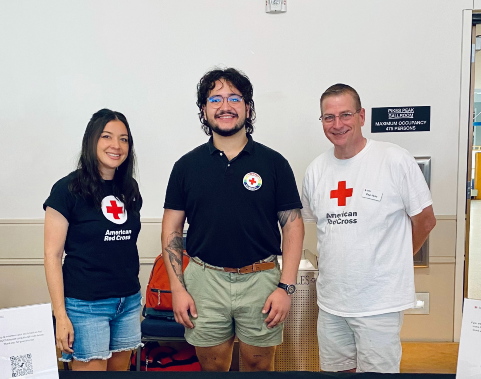
[[468, 297], [481, 299], [481, 200], [471, 200]]

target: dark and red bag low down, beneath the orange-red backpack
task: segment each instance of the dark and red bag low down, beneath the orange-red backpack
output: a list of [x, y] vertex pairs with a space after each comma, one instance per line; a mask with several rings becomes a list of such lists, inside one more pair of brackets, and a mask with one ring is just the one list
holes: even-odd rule
[[[132, 355], [130, 371], [136, 370], [137, 352]], [[186, 344], [176, 350], [171, 346], [159, 346], [148, 342], [140, 355], [140, 371], [201, 371], [194, 346]]]

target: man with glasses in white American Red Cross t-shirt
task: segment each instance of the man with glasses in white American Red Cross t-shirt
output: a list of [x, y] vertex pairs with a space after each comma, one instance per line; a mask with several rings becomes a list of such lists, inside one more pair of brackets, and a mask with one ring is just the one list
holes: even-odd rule
[[416, 303], [412, 257], [436, 224], [431, 194], [411, 154], [363, 137], [354, 88], [329, 87], [321, 113], [334, 147], [302, 191], [304, 220], [317, 223], [321, 368], [397, 373], [403, 311]]

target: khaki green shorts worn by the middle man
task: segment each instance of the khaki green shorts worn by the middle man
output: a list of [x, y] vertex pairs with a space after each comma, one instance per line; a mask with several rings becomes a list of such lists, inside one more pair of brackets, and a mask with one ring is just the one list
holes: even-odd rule
[[198, 317], [191, 317], [194, 329], [185, 329], [187, 342], [197, 347], [212, 347], [235, 334], [252, 346], [281, 344], [283, 325], [268, 329], [264, 322], [268, 314], [262, 314], [281, 276], [277, 259], [275, 262], [276, 267], [271, 270], [237, 274], [209, 269], [191, 260], [184, 281]]

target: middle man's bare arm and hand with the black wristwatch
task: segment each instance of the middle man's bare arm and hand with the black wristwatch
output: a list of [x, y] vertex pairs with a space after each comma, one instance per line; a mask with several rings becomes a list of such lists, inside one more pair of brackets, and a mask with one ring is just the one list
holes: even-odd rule
[[[281, 282], [295, 284], [301, 261], [304, 223], [300, 209], [290, 209], [277, 214], [282, 227], [282, 274]], [[269, 328], [282, 323], [289, 314], [291, 297], [286, 291], [277, 288], [264, 305], [263, 313], [269, 312], [265, 322]], [[270, 311], [269, 311], [270, 310]]]

